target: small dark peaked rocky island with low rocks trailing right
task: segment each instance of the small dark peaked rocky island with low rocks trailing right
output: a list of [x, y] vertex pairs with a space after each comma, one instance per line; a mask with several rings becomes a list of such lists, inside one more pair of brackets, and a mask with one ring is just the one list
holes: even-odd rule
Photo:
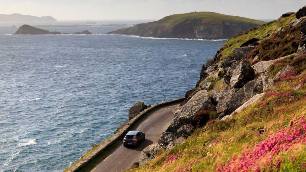
[[[14, 33], [14, 35], [59, 35], [61, 32], [50, 32], [49, 30], [43, 30], [40, 28], [36, 28], [27, 24], [24, 24], [19, 27], [19, 29]], [[68, 33], [64, 33], [68, 34]], [[82, 32], [74, 32], [72, 34], [92, 34], [88, 30], [84, 30]]]

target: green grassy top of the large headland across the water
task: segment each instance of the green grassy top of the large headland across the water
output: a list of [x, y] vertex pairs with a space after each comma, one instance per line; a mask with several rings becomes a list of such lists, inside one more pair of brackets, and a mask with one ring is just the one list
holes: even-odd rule
[[[192, 12], [192, 13], [183, 13], [183, 14], [173, 14], [170, 16], [166, 16], [158, 21], [149, 22], [147, 24], [150, 25], [151, 27], [156, 27], [156, 26], [173, 27], [181, 22], [184, 22], [187, 20], [193, 20], [193, 19], [200, 19], [203, 21], [203, 23], [215, 23], [215, 24], [221, 24], [223, 21], [237, 22], [237, 23], [252, 23], [252, 24], [258, 24], [258, 25], [262, 25], [266, 23], [264, 21], [248, 19], [248, 18], [239, 17], [239, 16], [225, 15], [225, 14], [214, 13], [214, 12]], [[131, 27], [131, 29], [136, 28], [136, 27], [133, 26]], [[120, 30], [124, 31], [126, 29], [128, 28], [124, 28]]]

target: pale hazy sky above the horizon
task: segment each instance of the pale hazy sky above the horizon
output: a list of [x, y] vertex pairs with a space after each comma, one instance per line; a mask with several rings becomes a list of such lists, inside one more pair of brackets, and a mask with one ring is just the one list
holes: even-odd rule
[[0, 14], [103, 20], [161, 19], [176, 13], [212, 11], [252, 19], [276, 19], [304, 5], [305, 0], [0, 0]]

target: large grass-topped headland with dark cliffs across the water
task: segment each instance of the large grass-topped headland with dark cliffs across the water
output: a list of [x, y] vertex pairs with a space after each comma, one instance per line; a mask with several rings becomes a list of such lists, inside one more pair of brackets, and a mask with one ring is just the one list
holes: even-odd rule
[[265, 22], [213, 12], [174, 14], [158, 21], [137, 24], [107, 34], [157, 38], [228, 39]]

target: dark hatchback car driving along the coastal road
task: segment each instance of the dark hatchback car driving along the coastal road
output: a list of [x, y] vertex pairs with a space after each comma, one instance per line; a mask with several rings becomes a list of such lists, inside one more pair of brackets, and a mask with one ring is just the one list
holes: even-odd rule
[[145, 133], [129, 131], [123, 139], [123, 146], [139, 146], [145, 140]]

